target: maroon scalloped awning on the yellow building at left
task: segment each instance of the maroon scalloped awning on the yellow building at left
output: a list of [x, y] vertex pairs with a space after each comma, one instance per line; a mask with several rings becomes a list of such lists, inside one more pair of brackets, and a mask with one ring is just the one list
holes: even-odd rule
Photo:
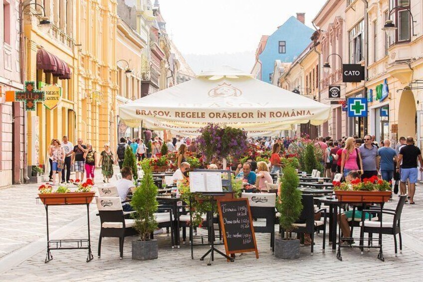
[[60, 79], [70, 79], [72, 74], [67, 63], [44, 49], [37, 51], [37, 69], [42, 69], [46, 73], [51, 72]]

